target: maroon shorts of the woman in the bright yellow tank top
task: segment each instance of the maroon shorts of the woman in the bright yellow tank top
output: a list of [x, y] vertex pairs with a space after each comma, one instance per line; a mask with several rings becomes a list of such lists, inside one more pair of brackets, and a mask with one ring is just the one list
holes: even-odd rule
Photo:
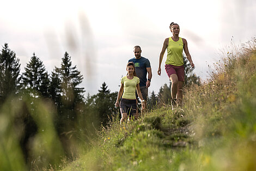
[[173, 66], [173, 65], [169, 65], [166, 64], [165, 65], [166, 68], [166, 73], [168, 75], [168, 77], [170, 77], [170, 75], [172, 74], [176, 74], [178, 76], [178, 81], [185, 81], [185, 69], [184, 69], [184, 65], [181, 66]]

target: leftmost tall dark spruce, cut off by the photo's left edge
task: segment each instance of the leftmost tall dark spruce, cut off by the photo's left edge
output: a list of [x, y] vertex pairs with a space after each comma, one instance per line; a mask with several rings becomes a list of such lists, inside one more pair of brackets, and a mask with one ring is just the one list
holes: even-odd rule
[[19, 74], [20, 60], [8, 44], [4, 44], [0, 53], [0, 103], [19, 90]]

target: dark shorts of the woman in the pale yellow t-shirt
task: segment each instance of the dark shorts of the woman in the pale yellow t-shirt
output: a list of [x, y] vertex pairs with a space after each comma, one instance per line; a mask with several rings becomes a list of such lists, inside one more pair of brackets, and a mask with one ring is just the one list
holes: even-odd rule
[[136, 110], [137, 110], [136, 99], [135, 100], [127, 100], [127, 99], [120, 100], [121, 114], [127, 113], [127, 115], [129, 115], [129, 117], [132, 117], [133, 114], [136, 113]]

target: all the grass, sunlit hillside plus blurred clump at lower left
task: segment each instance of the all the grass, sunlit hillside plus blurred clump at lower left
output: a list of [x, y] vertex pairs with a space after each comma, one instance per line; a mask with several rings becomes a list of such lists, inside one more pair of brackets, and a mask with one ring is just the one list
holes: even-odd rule
[[[30, 97], [10, 97], [0, 114], [0, 170], [256, 170], [255, 71], [253, 38], [223, 52], [208, 81], [186, 88], [182, 109], [164, 106], [122, 126], [112, 119], [93, 138], [74, 129], [66, 134], [80, 141], [70, 143], [57, 136], [49, 102], [32, 108]], [[22, 151], [26, 113], [36, 131]]]

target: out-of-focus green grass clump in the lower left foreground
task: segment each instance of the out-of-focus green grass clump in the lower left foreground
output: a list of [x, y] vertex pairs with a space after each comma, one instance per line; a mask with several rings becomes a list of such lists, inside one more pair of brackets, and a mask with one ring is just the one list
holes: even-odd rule
[[[0, 112], [0, 170], [28, 170], [33, 166], [47, 168], [48, 163], [60, 163], [64, 156], [62, 145], [54, 130], [53, 117], [54, 108], [51, 103], [34, 100], [31, 105], [31, 97], [24, 96], [23, 100], [10, 97], [1, 108]], [[10, 107], [11, 106], [11, 107]], [[33, 139], [30, 139], [29, 154], [33, 158], [31, 168], [26, 164], [20, 139], [26, 130], [25, 119], [31, 114], [37, 124], [38, 131]], [[28, 120], [27, 119], [27, 120]]]

